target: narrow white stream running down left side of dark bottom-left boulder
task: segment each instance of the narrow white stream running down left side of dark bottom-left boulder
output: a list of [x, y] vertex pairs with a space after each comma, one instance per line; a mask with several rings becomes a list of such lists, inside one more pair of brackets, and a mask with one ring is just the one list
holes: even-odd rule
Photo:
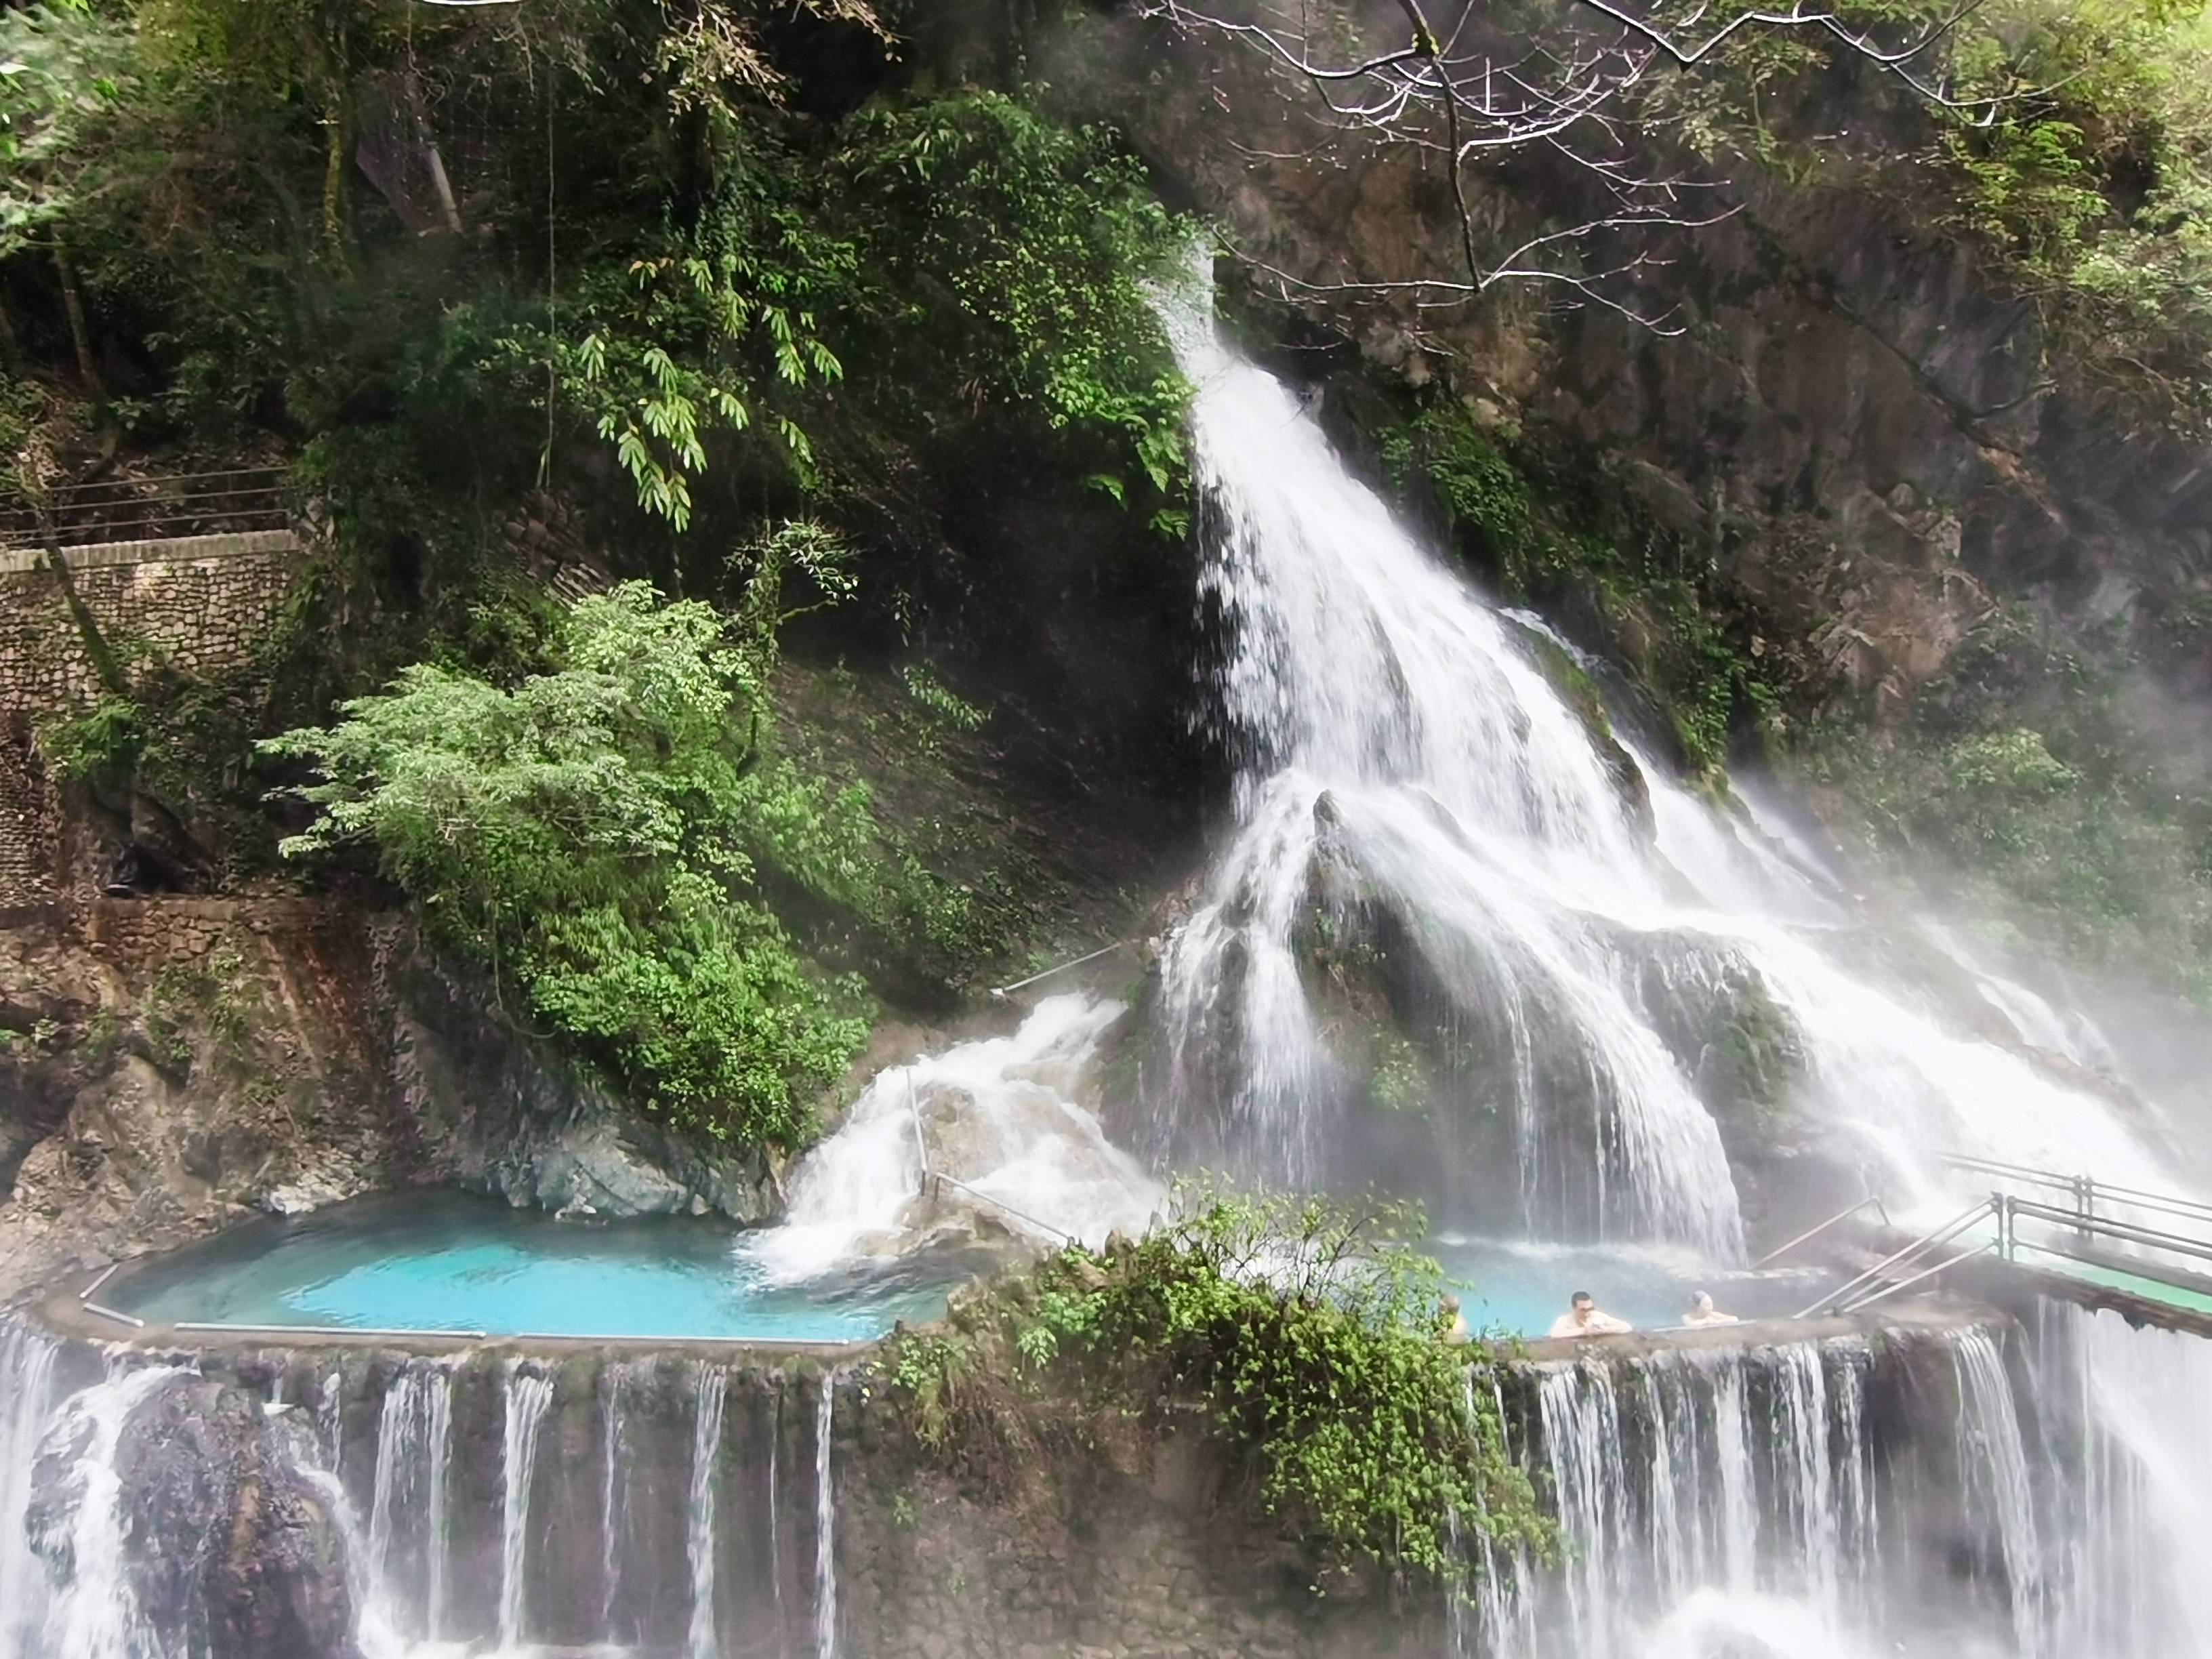
[[40, 1555], [69, 1562], [69, 1577], [53, 1590], [40, 1637], [42, 1650], [55, 1659], [161, 1659], [168, 1652], [166, 1632], [144, 1624], [131, 1588], [124, 1548], [131, 1517], [122, 1504], [115, 1451], [133, 1407], [181, 1374], [170, 1365], [119, 1371], [71, 1396], [46, 1431], [42, 1453], [66, 1449], [71, 1464], [71, 1504], [58, 1522], [62, 1535], [33, 1537]]

